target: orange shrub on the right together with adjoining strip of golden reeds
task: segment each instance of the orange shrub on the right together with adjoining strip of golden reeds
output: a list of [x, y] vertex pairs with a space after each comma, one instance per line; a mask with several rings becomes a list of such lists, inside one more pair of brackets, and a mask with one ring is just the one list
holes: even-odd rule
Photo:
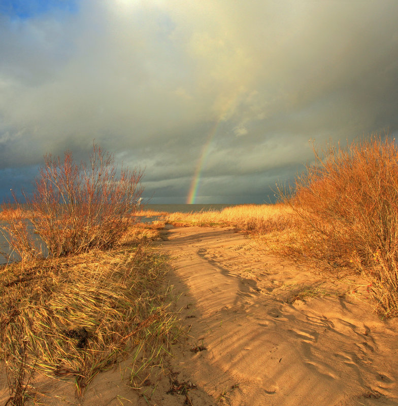
[[162, 216], [174, 226], [222, 226], [260, 238], [270, 253], [368, 281], [375, 311], [398, 315], [398, 148], [374, 134], [318, 151], [277, 204]]

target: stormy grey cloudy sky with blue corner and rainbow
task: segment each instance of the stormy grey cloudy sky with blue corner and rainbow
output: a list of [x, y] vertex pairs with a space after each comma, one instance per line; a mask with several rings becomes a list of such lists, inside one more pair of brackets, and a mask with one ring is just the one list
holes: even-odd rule
[[0, 0], [0, 200], [93, 140], [149, 203], [269, 203], [398, 132], [398, 2]]

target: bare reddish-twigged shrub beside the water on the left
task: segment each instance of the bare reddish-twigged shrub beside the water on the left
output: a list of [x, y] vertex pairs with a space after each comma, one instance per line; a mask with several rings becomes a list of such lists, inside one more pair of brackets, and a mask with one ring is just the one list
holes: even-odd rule
[[22, 259], [42, 254], [27, 230], [29, 223], [49, 256], [111, 248], [136, 220], [142, 176], [137, 169], [118, 172], [114, 157], [95, 144], [89, 164], [76, 164], [70, 151], [63, 161], [46, 155], [34, 192], [23, 195], [28, 222], [14, 195], [20, 215], [9, 219], [3, 234]]

